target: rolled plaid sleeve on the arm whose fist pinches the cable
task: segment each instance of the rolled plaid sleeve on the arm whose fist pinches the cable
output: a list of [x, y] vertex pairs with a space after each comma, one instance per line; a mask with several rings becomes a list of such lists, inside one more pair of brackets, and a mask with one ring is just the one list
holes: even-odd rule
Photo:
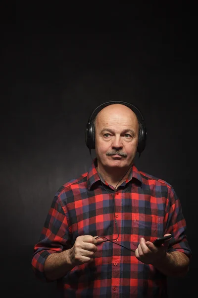
[[49, 282], [44, 273], [44, 263], [49, 254], [71, 248], [71, 234], [65, 211], [66, 206], [63, 210], [59, 195], [56, 195], [49, 209], [39, 242], [34, 246], [32, 269], [40, 280]]

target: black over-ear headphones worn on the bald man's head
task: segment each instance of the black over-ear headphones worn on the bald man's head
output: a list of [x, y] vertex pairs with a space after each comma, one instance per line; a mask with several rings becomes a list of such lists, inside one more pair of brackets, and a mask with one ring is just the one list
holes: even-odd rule
[[[95, 149], [95, 127], [94, 127], [94, 119], [96, 118], [97, 114], [99, 111], [101, 111], [104, 107], [111, 105], [111, 104], [123, 104], [130, 108], [137, 116], [139, 122], [141, 123], [140, 129], [139, 129], [139, 141], [138, 141], [138, 148], [137, 152], [140, 154], [144, 151], [146, 147], [146, 140], [147, 140], [147, 129], [145, 125], [145, 120], [140, 112], [140, 110], [134, 106], [131, 103], [125, 102], [125, 101], [108, 101], [100, 104], [91, 114], [87, 126], [86, 126], [86, 132], [85, 132], [85, 142], [87, 147], [91, 149]], [[135, 111], [134, 111], [135, 109]], [[137, 112], [139, 113], [140, 116], [137, 115]]]

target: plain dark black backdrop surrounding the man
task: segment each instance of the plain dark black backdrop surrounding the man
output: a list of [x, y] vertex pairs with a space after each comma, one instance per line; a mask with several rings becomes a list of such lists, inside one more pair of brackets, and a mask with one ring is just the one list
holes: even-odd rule
[[190, 271], [168, 279], [169, 297], [195, 297], [196, 8], [80, 3], [0, 4], [1, 291], [54, 297], [55, 283], [32, 273], [33, 246], [57, 189], [91, 164], [90, 113], [124, 100], [140, 108], [148, 130], [137, 167], [173, 185], [187, 221]]

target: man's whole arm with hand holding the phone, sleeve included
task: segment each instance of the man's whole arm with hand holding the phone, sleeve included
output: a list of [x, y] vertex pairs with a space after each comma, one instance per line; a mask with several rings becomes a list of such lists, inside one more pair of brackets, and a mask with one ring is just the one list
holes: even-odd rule
[[156, 247], [141, 238], [136, 257], [167, 276], [182, 277], [188, 272], [191, 249], [186, 238], [186, 221], [181, 204], [173, 188], [169, 188], [166, 203], [164, 236], [171, 234], [172, 239]]

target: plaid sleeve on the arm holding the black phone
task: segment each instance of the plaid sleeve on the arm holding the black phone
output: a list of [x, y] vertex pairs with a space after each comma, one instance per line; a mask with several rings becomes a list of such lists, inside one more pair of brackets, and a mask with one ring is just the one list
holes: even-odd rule
[[172, 186], [169, 190], [164, 226], [164, 234], [170, 233], [173, 236], [169, 242], [168, 252], [180, 251], [191, 257], [192, 252], [186, 235], [186, 221], [182, 213], [180, 200]]

